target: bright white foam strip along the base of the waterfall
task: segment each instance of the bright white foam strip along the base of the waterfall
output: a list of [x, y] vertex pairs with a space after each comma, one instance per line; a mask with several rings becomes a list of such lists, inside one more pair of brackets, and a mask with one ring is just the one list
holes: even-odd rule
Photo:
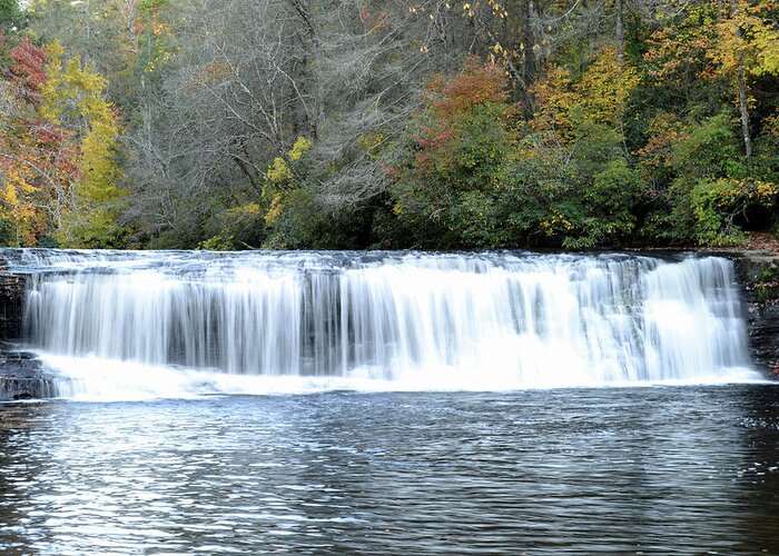
[[555, 388], [631, 388], [644, 386], [726, 385], [768, 383], [750, 368], [727, 369], [687, 379], [571, 384], [562, 380], [527, 383], [516, 377], [479, 378], [458, 369], [434, 369], [396, 380], [371, 378], [368, 369], [354, 369], [346, 376], [253, 376], [230, 375], [171, 366], [145, 365], [97, 357], [39, 354], [43, 363], [66, 380], [59, 396], [76, 401], [146, 401], [160, 398], [194, 399], [217, 395], [306, 395], [322, 391], [511, 391]]

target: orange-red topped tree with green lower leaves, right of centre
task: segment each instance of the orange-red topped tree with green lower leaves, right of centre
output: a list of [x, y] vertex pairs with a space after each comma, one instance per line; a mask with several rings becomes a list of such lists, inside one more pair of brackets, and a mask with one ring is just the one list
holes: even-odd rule
[[427, 86], [428, 108], [406, 139], [395, 167], [394, 212], [415, 246], [495, 247], [496, 196], [506, 187], [515, 108], [506, 77], [470, 58], [452, 80]]

